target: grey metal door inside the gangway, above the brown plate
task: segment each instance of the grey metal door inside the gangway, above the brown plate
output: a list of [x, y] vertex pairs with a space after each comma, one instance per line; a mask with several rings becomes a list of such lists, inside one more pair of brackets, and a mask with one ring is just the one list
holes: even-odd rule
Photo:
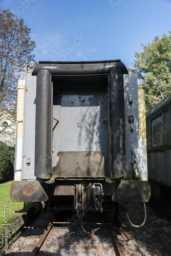
[[63, 95], [60, 123], [60, 151], [101, 151], [99, 95]]

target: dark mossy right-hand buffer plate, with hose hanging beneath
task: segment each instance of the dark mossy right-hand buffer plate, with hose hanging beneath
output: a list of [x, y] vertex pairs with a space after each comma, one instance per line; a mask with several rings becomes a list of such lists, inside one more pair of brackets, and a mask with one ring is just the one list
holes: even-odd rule
[[148, 202], [151, 189], [147, 181], [122, 180], [112, 200], [116, 202]]

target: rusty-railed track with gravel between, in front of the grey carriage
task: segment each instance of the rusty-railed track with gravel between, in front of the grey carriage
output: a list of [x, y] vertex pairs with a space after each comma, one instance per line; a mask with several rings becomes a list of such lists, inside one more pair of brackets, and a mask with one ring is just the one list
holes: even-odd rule
[[[67, 244], [61, 243], [54, 243], [53, 236], [59, 229], [69, 229], [71, 225], [74, 225], [72, 232], [66, 232], [63, 234], [62, 238], [63, 241], [67, 241]], [[84, 225], [83, 227], [83, 234], [76, 232], [80, 229], [80, 225]], [[88, 225], [108, 225], [109, 233], [111, 235], [112, 244], [109, 244], [108, 247], [103, 246], [100, 240], [106, 239], [106, 234], [92, 234], [88, 232]], [[87, 229], [87, 231], [86, 231]], [[75, 230], [75, 231], [74, 231]], [[109, 238], [108, 238], [109, 239]], [[79, 242], [78, 242], [79, 241]], [[81, 241], [81, 242], [80, 242]], [[93, 243], [92, 243], [93, 242]], [[100, 242], [100, 243], [99, 243]], [[100, 244], [100, 245], [99, 245]], [[42, 234], [41, 238], [39, 239], [38, 243], [34, 247], [31, 256], [36, 255], [46, 255], [46, 252], [49, 252], [49, 248], [51, 246], [51, 250], [72, 250], [77, 251], [86, 250], [86, 251], [100, 251], [101, 254], [106, 254], [108, 250], [113, 250], [113, 255], [116, 256], [124, 256], [121, 244], [117, 238], [117, 234], [115, 233], [115, 229], [110, 223], [73, 223], [73, 222], [54, 222], [53, 224], [49, 223], [47, 229], [45, 230], [44, 234]]]

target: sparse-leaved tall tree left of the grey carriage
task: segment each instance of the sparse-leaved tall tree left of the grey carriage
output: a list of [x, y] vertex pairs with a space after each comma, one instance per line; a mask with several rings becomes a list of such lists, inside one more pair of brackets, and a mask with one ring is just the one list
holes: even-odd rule
[[23, 19], [0, 6], [0, 110], [12, 114], [16, 112], [19, 75], [28, 63], [35, 61], [30, 30]]

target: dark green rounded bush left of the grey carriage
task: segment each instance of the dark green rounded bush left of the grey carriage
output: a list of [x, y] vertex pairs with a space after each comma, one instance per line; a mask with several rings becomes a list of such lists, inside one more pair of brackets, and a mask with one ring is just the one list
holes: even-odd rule
[[14, 179], [14, 167], [8, 146], [0, 141], [0, 183]]

